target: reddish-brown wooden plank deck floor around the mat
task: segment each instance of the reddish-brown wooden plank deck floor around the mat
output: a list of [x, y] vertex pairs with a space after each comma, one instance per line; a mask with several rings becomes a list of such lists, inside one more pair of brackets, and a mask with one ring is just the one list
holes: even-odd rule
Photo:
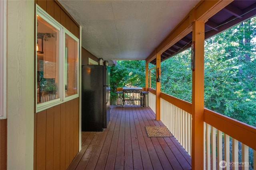
[[188, 170], [191, 157], [174, 137], [147, 137], [145, 126], [164, 126], [149, 107], [111, 106], [103, 132], [82, 132], [82, 150], [68, 170]]

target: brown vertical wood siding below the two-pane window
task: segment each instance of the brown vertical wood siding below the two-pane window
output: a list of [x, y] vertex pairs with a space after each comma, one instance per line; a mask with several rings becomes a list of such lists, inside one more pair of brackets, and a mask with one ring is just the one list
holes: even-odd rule
[[67, 169], [78, 153], [79, 98], [34, 114], [34, 169]]

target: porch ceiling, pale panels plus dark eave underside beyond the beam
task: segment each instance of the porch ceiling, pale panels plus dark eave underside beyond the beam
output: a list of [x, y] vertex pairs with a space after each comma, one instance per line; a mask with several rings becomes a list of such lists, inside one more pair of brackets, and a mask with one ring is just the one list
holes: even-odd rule
[[[113, 64], [112, 60], [145, 60], [199, 0], [59, 2], [82, 26], [82, 46], [96, 57]], [[233, 1], [206, 22], [206, 38], [256, 15], [256, 10], [252, 10], [255, 7], [256, 0]], [[238, 17], [242, 14], [245, 15]], [[236, 17], [238, 19], [222, 25]], [[161, 60], [187, 49], [191, 40], [192, 34], [189, 33], [162, 53]], [[156, 61], [151, 63], [155, 64]]]

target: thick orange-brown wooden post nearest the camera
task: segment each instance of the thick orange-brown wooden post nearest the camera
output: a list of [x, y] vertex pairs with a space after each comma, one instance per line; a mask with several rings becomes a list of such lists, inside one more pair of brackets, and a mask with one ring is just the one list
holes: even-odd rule
[[192, 169], [204, 169], [204, 21], [194, 21], [192, 71]]

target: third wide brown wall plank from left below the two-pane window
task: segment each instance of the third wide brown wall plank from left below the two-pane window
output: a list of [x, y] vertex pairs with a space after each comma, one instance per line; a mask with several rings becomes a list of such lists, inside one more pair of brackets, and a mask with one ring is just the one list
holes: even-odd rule
[[53, 169], [60, 169], [60, 105], [54, 106]]

